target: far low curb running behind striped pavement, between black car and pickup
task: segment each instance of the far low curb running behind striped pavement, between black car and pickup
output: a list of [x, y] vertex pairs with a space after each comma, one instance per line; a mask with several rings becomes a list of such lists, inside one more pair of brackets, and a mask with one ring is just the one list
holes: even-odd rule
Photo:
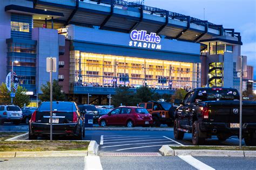
[[145, 131], [173, 131], [173, 128], [85, 128], [85, 130], [145, 130]]

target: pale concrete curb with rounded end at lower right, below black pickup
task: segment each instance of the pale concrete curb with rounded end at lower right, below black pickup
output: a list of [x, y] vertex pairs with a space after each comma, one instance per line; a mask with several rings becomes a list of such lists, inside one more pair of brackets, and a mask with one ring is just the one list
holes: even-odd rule
[[173, 150], [168, 145], [163, 145], [159, 152], [163, 156], [191, 155], [197, 157], [256, 157], [256, 151], [231, 151], [231, 150]]

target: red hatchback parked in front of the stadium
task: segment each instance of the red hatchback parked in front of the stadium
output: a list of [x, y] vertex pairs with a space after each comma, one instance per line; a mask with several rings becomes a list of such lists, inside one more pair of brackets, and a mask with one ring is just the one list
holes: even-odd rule
[[150, 126], [153, 123], [150, 113], [140, 107], [118, 107], [110, 111], [107, 115], [100, 116], [98, 124], [100, 126]]

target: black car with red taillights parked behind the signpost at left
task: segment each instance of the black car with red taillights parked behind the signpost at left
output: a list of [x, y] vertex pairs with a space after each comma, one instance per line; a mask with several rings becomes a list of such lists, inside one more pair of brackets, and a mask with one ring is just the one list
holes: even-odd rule
[[[52, 134], [55, 136], [76, 136], [82, 140], [84, 117], [75, 102], [52, 102]], [[29, 139], [50, 135], [50, 102], [43, 102], [33, 112], [29, 121]]]

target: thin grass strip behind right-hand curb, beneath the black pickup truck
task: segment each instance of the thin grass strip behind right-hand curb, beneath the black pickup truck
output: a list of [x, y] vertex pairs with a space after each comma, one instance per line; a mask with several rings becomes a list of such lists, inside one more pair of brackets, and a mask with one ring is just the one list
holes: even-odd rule
[[232, 150], [232, 151], [256, 151], [256, 147], [242, 146], [170, 146], [173, 150]]

